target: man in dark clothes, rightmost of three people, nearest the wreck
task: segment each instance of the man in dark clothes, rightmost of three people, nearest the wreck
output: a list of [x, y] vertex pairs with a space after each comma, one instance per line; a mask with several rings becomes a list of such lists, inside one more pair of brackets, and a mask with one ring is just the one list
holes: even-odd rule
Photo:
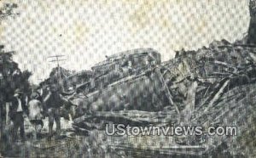
[[53, 136], [53, 124], [56, 123], [56, 133], [59, 136], [61, 134], [61, 114], [60, 108], [62, 104], [68, 102], [59, 93], [59, 88], [56, 85], [51, 85], [49, 87], [49, 94], [45, 97], [44, 103], [48, 109], [49, 116], [49, 137]]

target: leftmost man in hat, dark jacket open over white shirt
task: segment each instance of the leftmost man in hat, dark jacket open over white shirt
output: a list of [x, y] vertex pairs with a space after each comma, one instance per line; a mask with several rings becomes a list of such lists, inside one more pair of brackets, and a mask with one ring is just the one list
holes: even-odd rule
[[12, 104], [9, 107], [9, 118], [13, 121], [13, 139], [17, 139], [18, 129], [20, 128], [20, 138], [22, 141], [25, 140], [25, 130], [24, 130], [24, 117], [23, 115], [28, 114], [26, 108], [26, 101], [22, 97], [22, 92], [20, 89], [15, 90], [15, 95], [12, 99]]

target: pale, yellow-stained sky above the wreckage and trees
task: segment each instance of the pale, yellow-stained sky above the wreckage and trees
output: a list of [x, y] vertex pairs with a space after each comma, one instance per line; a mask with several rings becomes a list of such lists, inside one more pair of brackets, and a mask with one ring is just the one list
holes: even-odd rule
[[31, 81], [61, 66], [90, 70], [106, 55], [133, 48], [154, 48], [163, 61], [174, 51], [194, 50], [213, 40], [234, 42], [247, 33], [247, 0], [2, 0], [17, 3], [19, 16], [0, 24], [0, 43], [14, 50]]

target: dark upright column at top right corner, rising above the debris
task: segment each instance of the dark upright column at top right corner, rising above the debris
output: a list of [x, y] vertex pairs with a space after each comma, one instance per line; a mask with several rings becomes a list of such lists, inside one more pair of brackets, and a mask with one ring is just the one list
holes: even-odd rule
[[249, 1], [249, 9], [251, 20], [248, 29], [247, 43], [256, 44], [256, 0]]

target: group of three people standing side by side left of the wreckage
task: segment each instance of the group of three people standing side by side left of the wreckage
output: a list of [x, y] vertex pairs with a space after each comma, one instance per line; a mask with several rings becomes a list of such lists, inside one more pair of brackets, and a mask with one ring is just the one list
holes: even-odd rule
[[15, 95], [9, 106], [9, 118], [12, 121], [11, 133], [12, 139], [18, 139], [18, 131], [20, 129], [21, 141], [25, 141], [26, 133], [24, 127], [24, 116], [28, 116], [32, 126], [35, 127], [34, 137], [44, 127], [43, 119], [49, 117], [49, 138], [53, 133], [53, 124], [56, 124], [56, 135], [61, 134], [61, 115], [60, 110], [64, 102], [68, 102], [63, 98], [56, 85], [51, 85], [47, 90], [48, 93], [43, 97], [37, 91], [33, 92], [29, 100], [25, 99], [20, 89], [15, 90]]

